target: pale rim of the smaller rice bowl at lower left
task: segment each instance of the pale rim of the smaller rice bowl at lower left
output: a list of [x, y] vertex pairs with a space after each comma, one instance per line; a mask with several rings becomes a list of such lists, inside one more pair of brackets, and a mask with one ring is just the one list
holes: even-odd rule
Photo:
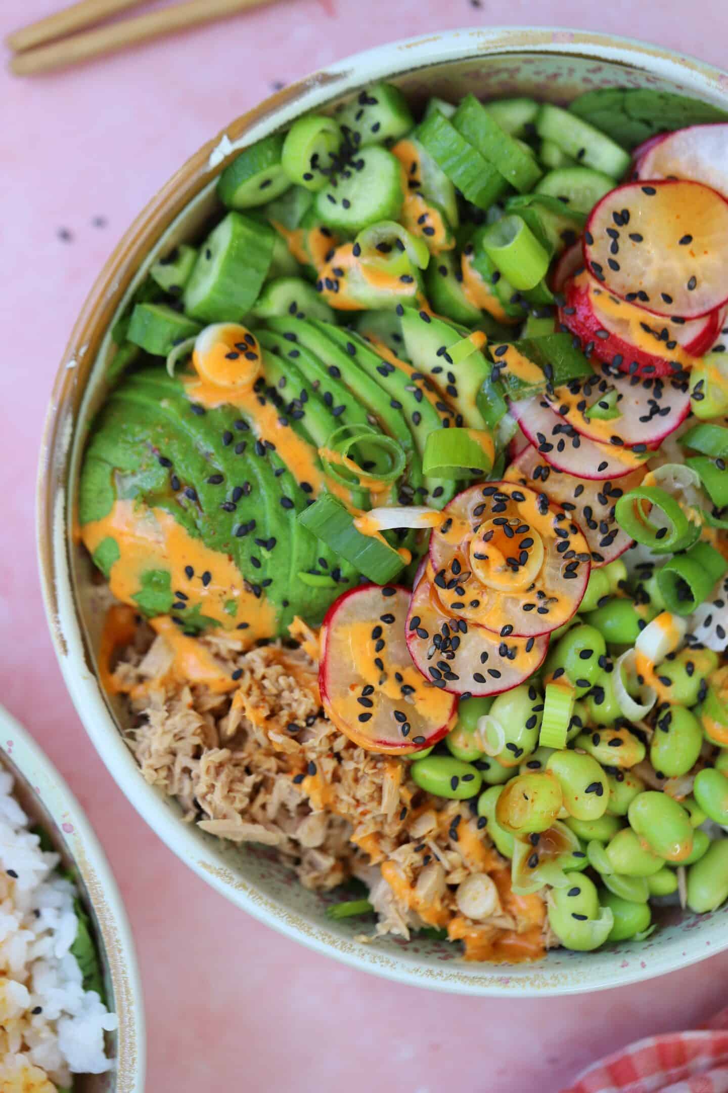
[[102, 844], [65, 779], [29, 732], [2, 706], [0, 752], [25, 778], [56, 824], [57, 835], [65, 844], [96, 916], [98, 940], [111, 979], [112, 1008], [119, 1018], [112, 1093], [144, 1093], [146, 1034], [142, 984], [127, 912]]

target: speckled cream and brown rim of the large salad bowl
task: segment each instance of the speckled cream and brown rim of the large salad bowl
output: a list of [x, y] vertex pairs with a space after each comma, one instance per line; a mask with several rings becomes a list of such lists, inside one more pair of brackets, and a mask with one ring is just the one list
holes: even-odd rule
[[[449, 62], [477, 62], [484, 56], [529, 54], [581, 58], [623, 66], [682, 85], [703, 99], [728, 107], [728, 75], [691, 57], [607, 34], [559, 28], [465, 28], [432, 34], [357, 54], [329, 66], [266, 98], [204, 144], [152, 199], [102, 270], [71, 334], [52, 391], [40, 451], [38, 551], [46, 613], [67, 686], [86, 731], [117, 784], [150, 826], [216, 891], [255, 918], [311, 949], [386, 978], [431, 989], [481, 996], [533, 997], [622, 986], [684, 967], [728, 948], [728, 928], [704, 945], [685, 936], [682, 954], [652, 953], [649, 963], [616, 955], [608, 971], [578, 966], [533, 975], [509, 975], [508, 967], [438, 964], [434, 957], [408, 962], [343, 938], [320, 920], [299, 915], [247, 883], [204, 845], [140, 776], [117, 729], [85, 648], [71, 584], [70, 528], [65, 495], [75, 422], [91, 366], [134, 271], [177, 215], [219, 171], [238, 145], [289, 124], [308, 110], [379, 79], [401, 77]], [[706, 951], [705, 947], [709, 947]], [[626, 965], [626, 966], [625, 966]], [[477, 969], [477, 972], [476, 972]]]

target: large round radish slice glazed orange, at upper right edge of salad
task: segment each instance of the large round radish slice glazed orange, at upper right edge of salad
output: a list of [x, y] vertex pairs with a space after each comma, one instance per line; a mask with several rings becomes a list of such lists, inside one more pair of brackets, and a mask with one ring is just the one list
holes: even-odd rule
[[728, 301], [728, 200], [702, 183], [628, 183], [595, 205], [587, 267], [621, 299], [696, 319]]

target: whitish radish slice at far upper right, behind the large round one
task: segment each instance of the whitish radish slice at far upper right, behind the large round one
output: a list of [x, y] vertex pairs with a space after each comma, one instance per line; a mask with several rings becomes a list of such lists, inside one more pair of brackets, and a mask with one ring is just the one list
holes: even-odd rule
[[[639, 151], [639, 150], [637, 150]], [[677, 129], [635, 158], [637, 178], [689, 178], [728, 198], [728, 124]]]

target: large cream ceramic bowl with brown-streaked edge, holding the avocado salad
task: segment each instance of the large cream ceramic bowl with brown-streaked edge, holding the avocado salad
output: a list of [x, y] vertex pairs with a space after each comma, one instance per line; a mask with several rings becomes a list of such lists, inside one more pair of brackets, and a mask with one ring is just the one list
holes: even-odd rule
[[40, 461], [38, 525], [48, 619], [65, 681], [112, 776], [167, 845], [237, 906], [319, 952], [405, 983], [477, 995], [568, 994], [669, 972], [728, 947], [728, 907], [702, 918], [669, 913], [646, 941], [587, 954], [556, 950], [536, 965], [466, 963], [453, 947], [431, 941], [355, 941], [360, 926], [330, 922], [322, 898], [295, 883], [264, 848], [235, 848], [183, 823], [179, 808], [142, 778], [121, 737], [123, 710], [99, 685], [102, 620], [91, 595], [91, 563], [72, 531], [80, 457], [106, 388], [110, 322], [154, 258], [204, 224], [216, 176], [236, 149], [380, 79], [396, 83], [415, 103], [474, 92], [565, 104], [589, 89], [629, 86], [678, 91], [728, 107], [728, 75], [657, 46], [572, 31], [478, 28], [350, 57], [231, 121], [130, 227], [86, 301], [60, 365]]

